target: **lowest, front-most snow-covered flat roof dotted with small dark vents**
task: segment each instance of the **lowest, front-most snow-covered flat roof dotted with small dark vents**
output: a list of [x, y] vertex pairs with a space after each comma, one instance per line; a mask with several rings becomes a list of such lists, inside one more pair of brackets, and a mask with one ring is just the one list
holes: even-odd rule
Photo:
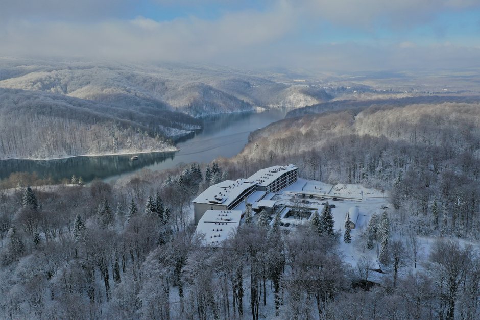
[[220, 247], [222, 241], [238, 227], [242, 211], [207, 210], [197, 225], [197, 232], [205, 234], [206, 245]]

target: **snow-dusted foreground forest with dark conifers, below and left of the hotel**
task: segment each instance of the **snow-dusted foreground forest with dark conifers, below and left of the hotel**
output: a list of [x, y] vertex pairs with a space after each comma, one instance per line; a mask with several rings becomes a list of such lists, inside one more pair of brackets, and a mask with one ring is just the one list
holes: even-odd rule
[[[352, 267], [339, 250], [340, 235], [313, 224], [286, 232], [278, 223], [245, 220], [222, 248], [204, 247], [188, 207], [209, 184], [235, 178], [227, 166], [235, 167], [221, 159], [208, 170], [181, 165], [144, 170], [115, 185], [97, 180], [38, 189], [22, 187], [18, 176], [16, 189], [0, 191], [0, 314], [24, 320], [380, 320], [392, 314], [453, 320], [480, 314], [478, 251], [450, 235], [431, 240], [424, 255], [418, 235], [425, 214], [410, 215], [408, 202], [380, 218], [390, 215], [388, 230], [409, 234], [407, 244], [388, 242], [381, 277], [368, 256]], [[244, 169], [237, 168], [237, 174]], [[303, 167], [301, 175], [308, 173]], [[395, 183], [402, 192], [406, 180], [412, 177]], [[443, 208], [440, 203], [433, 208]], [[410, 230], [410, 221], [400, 220], [406, 216], [417, 217]], [[358, 232], [348, 245], [359, 252], [380, 240]], [[466, 237], [472, 234], [473, 228]]]

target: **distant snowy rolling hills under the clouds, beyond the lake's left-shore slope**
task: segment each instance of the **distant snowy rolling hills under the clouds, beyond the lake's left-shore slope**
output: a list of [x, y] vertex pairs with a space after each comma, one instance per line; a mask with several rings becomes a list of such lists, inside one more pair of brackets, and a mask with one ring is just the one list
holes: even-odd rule
[[323, 89], [288, 86], [230, 68], [105, 61], [0, 58], [0, 88], [48, 91], [194, 117], [252, 110], [253, 106], [298, 108], [331, 99]]

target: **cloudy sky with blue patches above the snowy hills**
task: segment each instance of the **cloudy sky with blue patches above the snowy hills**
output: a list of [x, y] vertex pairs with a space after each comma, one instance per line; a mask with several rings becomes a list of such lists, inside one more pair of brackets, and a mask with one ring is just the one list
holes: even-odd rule
[[0, 56], [480, 67], [480, 0], [0, 0]]

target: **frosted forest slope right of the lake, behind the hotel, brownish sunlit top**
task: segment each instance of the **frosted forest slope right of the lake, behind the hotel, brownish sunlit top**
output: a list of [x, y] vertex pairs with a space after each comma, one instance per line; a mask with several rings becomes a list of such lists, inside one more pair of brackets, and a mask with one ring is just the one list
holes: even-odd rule
[[399, 105], [275, 122], [250, 135], [229, 171], [296, 163], [305, 178], [385, 190], [421, 234], [480, 239], [479, 103]]

